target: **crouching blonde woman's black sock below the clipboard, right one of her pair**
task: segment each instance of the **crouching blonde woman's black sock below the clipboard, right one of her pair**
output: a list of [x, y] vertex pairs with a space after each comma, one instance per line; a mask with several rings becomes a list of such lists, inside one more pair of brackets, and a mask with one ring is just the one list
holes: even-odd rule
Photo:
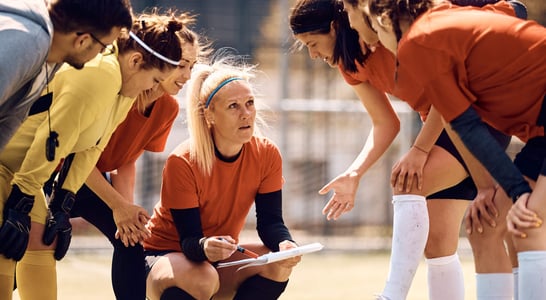
[[233, 300], [275, 300], [281, 296], [287, 285], [288, 280], [278, 282], [254, 275], [241, 283]]

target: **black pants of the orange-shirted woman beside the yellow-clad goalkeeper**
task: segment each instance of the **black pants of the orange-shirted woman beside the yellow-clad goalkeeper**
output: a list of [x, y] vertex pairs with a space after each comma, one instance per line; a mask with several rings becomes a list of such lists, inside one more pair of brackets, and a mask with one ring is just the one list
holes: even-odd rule
[[145, 299], [146, 275], [144, 250], [140, 244], [125, 247], [115, 238], [116, 224], [112, 210], [86, 185], [76, 194], [72, 217], [82, 217], [97, 227], [112, 246], [112, 286], [118, 300]]

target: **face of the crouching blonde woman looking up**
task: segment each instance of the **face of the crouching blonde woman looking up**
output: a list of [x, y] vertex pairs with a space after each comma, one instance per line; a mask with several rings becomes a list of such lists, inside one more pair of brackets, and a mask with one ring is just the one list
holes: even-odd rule
[[245, 80], [223, 86], [206, 110], [214, 143], [226, 157], [236, 155], [254, 134], [256, 108], [254, 94]]

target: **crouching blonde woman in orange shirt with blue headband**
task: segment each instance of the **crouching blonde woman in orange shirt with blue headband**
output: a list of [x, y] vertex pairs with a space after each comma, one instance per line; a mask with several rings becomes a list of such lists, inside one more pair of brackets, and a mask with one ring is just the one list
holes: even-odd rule
[[[282, 217], [282, 159], [257, 135], [252, 68], [228, 61], [194, 70], [187, 94], [190, 137], [169, 156], [161, 201], [144, 241], [147, 296], [166, 299], [277, 299], [295, 257], [236, 272], [217, 262], [236, 252], [253, 204], [261, 242], [244, 248], [265, 254], [293, 248]], [[259, 119], [259, 118], [258, 118]]]

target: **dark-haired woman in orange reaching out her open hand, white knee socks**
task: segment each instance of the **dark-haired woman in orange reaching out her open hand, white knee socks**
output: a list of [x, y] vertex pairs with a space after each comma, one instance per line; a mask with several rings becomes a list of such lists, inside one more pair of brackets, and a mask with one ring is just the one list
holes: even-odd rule
[[[328, 219], [336, 219], [353, 208], [360, 178], [385, 152], [400, 126], [384, 94], [393, 93], [394, 56], [377, 43], [377, 35], [364, 22], [357, 4], [357, 1], [343, 1], [342, 5], [334, 0], [301, 0], [290, 18], [298, 42], [307, 46], [312, 58], [323, 58], [339, 68], [373, 123], [368, 141], [354, 163], [320, 191], [324, 194], [334, 191], [323, 210]], [[488, 9], [514, 14], [507, 3]], [[509, 138], [498, 132], [495, 134], [506, 147]], [[433, 111], [414, 146], [393, 167], [391, 181], [394, 233], [389, 279], [383, 294], [393, 299], [406, 297], [424, 251], [430, 298], [462, 299], [464, 280], [456, 251], [460, 222], [468, 200], [476, 197], [476, 187], [468, 177], [461, 155], [447, 133], [442, 132], [441, 120]], [[484, 235], [492, 233], [486, 230]], [[502, 236], [496, 240], [502, 243]], [[480, 239], [472, 246], [476, 249], [494, 248], [489, 243], [490, 240]], [[501, 253], [504, 247], [498, 248], [498, 256], [482, 256], [476, 252], [477, 269], [483, 273], [496, 273], [499, 268], [504, 268], [507, 276], [511, 277], [508, 257]], [[498, 259], [499, 256], [502, 259]], [[507, 286], [504, 282], [498, 285]], [[454, 292], [446, 296], [446, 289]], [[511, 290], [507, 294], [511, 294]]]

